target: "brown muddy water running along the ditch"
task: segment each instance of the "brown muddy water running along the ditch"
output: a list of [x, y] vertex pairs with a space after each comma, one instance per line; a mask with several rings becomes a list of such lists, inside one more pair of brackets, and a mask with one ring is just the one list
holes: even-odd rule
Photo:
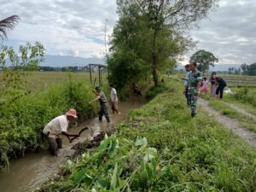
[[75, 143], [90, 140], [100, 131], [106, 131], [113, 125], [125, 119], [126, 114], [133, 108], [139, 108], [143, 105], [142, 97], [131, 97], [128, 102], [119, 105], [121, 114], [111, 114], [111, 123], [108, 124], [106, 119], [100, 123], [97, 118], [85, 121], [78, 127], [73, 127], [69, 131], [79, 132], [84, 126], [88, 126], [89, 130], [84, 131], [81, 136], [68, 143], [66, 137], [62, 137], [63, 146], [57, 157], [53, 157], [46, 150], [40, 151], [38, 154], [29, 153], [25, 157], [17, 160], [11, 160], [8, 172], [0, 172], [0, 191], [1, 192], [27, 192], [36, 189], [40, 183], [48, 177], [54, 176], [61, 163], [67, 161], [67, 156], [73, 154], [71, 149]]

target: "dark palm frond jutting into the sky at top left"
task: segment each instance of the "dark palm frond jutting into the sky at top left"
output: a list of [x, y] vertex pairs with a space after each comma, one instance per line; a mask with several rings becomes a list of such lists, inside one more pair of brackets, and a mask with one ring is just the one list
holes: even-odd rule
[[7, 31], [13, 29], [19, 20], [20, 17], [18, 15], [12, 15], [4, 20], [0, 20], [0, 38], [7, 38]]

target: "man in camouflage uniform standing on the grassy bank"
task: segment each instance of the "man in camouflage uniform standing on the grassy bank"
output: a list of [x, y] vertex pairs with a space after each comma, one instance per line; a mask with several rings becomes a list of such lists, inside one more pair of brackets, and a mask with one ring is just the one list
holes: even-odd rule
[[191, 108], [191, 117], [195, 117], [196, 114], [196, 102], [198, 91], [201, 87], [201, 73], [196, 68], [196, 62], [189, 62], [189, 81], [188, 81], [188, 96], [189, 96], [189, 105]]

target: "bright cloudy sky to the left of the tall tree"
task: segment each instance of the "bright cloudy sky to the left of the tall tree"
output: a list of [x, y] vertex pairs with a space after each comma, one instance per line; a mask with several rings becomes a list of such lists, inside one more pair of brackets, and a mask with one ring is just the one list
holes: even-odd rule
[[105, 32], [112, 33], [118, 19], [115, 1], [0, 0], [0, 18], [19, 15], [20, 23], [9, 32], [12, 44], [39, 41], [49, 55], [83, 57], [105, 54]]

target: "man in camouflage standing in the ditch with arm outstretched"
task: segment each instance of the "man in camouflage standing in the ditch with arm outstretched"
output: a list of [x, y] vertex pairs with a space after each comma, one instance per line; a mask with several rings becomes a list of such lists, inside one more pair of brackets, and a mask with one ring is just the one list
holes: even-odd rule
[[96, 102], [97, 100], [101, 104], [100, 112], [99, 112], [99, 120], [102, 121], [103, 115], [107, 119], [107, 122], [110, 123], [109, 113], [108, 113], [108, 100], [104, 95], [100, 86], [96, 86], [95, 90], [93, 90], [96, 94], [96, 98], [89, 103]]

